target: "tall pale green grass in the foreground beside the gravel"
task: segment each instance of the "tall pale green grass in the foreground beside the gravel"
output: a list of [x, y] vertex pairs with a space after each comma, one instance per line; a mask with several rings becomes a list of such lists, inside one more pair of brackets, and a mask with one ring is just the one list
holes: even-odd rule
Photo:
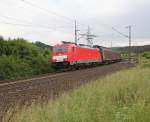
[[106, 76], [47, 104], [18, 110], [11, 121], [150, 122], [150, 68]]

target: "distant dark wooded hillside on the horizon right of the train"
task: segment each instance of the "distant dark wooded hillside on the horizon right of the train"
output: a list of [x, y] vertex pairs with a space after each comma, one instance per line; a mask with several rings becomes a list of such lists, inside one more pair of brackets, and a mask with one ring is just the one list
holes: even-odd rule
[[[128, 52], [129, 47], [113, 47], [112, 49], [121, 51], [121, 52]], [[131, 51], [133, 53], [142, 53], [145, 51], [150, 51], [150, 45], [144, 45], [144, 46], [132, 46]]]

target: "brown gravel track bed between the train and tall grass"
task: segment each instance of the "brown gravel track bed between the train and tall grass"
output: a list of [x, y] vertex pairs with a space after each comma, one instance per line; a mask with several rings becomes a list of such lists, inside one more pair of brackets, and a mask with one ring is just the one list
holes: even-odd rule
[[33, 79], [1, 82], [0, 116], [2, 118], [9, 108], [14, 108], [16, 103], [21, 105], [31, 103], [32, 101], [38, 101], [39, 97], [41, 101], [45, 101], [89, 81], [128, 67], [128, 63], [119, 62], [95, 68], [45, 75]]

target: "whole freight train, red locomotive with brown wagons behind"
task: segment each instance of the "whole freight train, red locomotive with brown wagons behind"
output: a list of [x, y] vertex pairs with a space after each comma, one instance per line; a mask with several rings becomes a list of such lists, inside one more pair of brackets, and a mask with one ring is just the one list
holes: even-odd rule
[[52, 66], [54, 68], [69, 68], [96, 66], [103, 63], [112, 63], [121, 60], [121, 54], [109, 48], [94, 45], [77, 45], [63, 42], [53, 46]]

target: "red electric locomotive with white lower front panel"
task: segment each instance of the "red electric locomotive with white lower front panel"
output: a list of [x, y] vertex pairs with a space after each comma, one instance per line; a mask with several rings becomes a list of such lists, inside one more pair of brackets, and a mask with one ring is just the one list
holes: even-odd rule
[[102, 54], [98, 48], [80, 46], [75, 43], [63, 42], [55, 45], [52, 53], [52, 65], [54, 67], [86, 66], [102, 62]]

